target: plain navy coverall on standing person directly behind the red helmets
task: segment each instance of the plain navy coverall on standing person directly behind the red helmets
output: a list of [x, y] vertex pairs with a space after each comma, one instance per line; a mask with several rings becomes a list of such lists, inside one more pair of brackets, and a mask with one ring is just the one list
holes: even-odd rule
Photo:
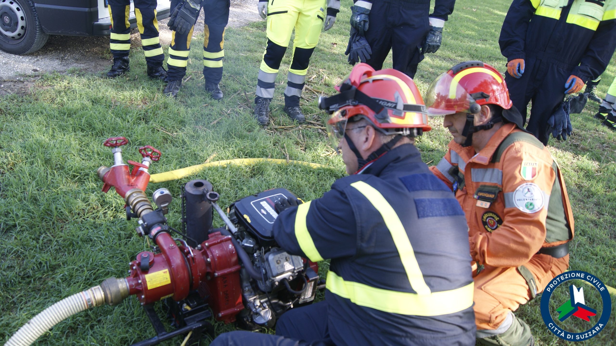
[[434, 12], [429, 15], [430, 0], [363, 1], [372, 3], [365, 34], [372, 55], [365, 63], [381, 70], [391, 49], [394, 69], [410, 78], [424, 58], [421, 46], [430, 30], [429, 17], [446, 21], [455, 4], [455, 0], [436, 0]]

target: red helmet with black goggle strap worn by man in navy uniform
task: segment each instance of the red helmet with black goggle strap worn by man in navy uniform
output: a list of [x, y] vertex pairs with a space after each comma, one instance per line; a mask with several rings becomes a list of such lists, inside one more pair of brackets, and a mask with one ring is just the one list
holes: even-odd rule
[[[333, 140], [343, 137], [347, 121], [362, 118], [384, 134], [417, 136], [432, 129], [415, 82], [400, 71], [392, 68], [375, 71], [367, 63], [359, 63], [336, 90], [340, 93], [318, 100], [319, 108], [333, 113], [327, 121]], [[333, 145], [336, 143], [337, 140]]]

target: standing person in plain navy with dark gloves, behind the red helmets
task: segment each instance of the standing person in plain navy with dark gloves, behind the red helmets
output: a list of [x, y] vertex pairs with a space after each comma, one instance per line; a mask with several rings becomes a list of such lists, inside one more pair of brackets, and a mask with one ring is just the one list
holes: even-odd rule
[[[434, 12], [429, 14], [430, 0], [357, 0], [351, 7], [351, 38], [364, 36], [370, 46], [370, 57], [362, 62], [376, 70], [392, 50], [395, 70], [410, 78], [425, 53], [436, 53], [442, 41], [443, 26], [452, 14], [455, 0], [436, 0]], [[352, 41], [352, 39], [351, 39]], [[352, 42], [347, 54], [351, 61]], [[359, 49], [362, 49], [360, 47]]]

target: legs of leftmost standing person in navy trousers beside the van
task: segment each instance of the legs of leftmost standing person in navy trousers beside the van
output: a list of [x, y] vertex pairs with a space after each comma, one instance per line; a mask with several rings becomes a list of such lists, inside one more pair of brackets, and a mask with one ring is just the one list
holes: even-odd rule
[[[133, 3], [137, 28], [139, 28], [141, 44], [144, 47], [147, 74], [150, 78], [164, 81], [167, 71], [163, 68], [164, 53], [158, 38], [157, 2], [156, 0], [135, 0]], [[129, 0], [109, 0], [107, 8], [111, 17], [109, 47], [113, 54], [113, 66], [107, 72], [107, 77], [116, 78], [130, 70], [128, 52], [131, 49], [131, 23], [128, 19], [131, 2]]]

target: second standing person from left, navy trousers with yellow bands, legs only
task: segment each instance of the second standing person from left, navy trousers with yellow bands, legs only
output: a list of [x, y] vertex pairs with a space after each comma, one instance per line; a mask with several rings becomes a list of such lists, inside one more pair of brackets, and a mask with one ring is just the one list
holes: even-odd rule
[[203, 28], [203, 76], [205, 91], [214, 100], [222, 99], [219, 83], [222, 79], [222, 58], [225, 56], [225, 27], [229, 23], [230, 0], [171, 0], [171, 18], [169, 28], [171, 46], [167, 60], [167, 87], [163, 94], [177, 97], [182, 87], [182, 78], [186, 75], [190, 41], [194, 25], [197, 23], [201, 7], [205, 11], [205, 27]]

